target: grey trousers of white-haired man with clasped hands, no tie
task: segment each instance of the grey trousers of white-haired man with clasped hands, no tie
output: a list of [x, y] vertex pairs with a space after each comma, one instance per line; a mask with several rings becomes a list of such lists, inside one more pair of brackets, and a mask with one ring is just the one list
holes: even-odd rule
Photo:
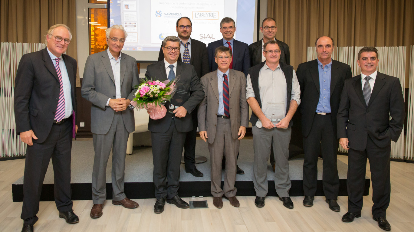
[[120, 201], [124, 194], [125, 155], [129, 133], [120, 112], [115, 112], [106, 134], [93, 134], [94, 169], [92, 171], [92, 201], [103, 204], [106, 200], [106, 165], [112, 148], [112, 199]]

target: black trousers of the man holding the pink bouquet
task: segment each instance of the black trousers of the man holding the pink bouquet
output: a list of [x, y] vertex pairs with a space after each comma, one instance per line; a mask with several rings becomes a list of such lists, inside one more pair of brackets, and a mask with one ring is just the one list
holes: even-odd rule
[[171, 199], [177, 195], [185, 134], [177, 131], [173, 118], [167, 132], [151, 132], [156, 199]]

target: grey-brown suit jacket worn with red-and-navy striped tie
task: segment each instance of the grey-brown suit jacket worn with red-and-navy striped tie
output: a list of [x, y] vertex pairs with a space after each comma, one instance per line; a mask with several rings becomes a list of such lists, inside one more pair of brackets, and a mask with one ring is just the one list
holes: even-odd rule
[[[216, 135], [217, 111], [219, 110], [217, 70], [205, 74], [201, 78], [201, 86], [205, 92], [205, 96], [198, 107], [198, 130], [207, 131], [207, 141], [212, 144]], [[246, 101], [246, 77], [243, 72], [230, 69], [229, 97], [231, 135], [233, 139], [237, 139], [240, 126], [249, 126], [249, 106]]]

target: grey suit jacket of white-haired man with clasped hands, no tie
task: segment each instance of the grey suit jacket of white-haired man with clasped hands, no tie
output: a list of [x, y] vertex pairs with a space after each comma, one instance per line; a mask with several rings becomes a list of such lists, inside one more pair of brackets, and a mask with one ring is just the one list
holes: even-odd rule
[[[134, 86], [138, 84], [138, 67], [135, 58], [121, 53], [121, 98], [134, 98]], [[107, 50], [89, 55], [82, 82], [82, 97], [92, 103], [91, 132], [106, 134], [111, 127], [115, 111], [106, 106], [108, 98], [116, 98], [115, 79]], [[128, 132], [135, 130], [133, 110], [121, 111]]]

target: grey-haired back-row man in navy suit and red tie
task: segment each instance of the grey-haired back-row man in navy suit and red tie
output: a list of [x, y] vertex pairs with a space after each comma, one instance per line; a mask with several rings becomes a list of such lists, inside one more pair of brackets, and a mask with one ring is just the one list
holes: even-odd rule
[[[208, 62], [209, 71], [217, 70], [218, 65], [214, 61], [214, 53], [219, 46], [225, 46], [231, 49], [233, 56], [231, 57], [230, 68], [243, 72], [247, 77], [248, 69], [250, 68], [250, 56], [247, 43], [235, 40], [234, 33], [236, 32], [236, 22], [232, 18], [225, 17], [220, 22], [220, 32], [223, 35], [222, 39], [208, 44]], [[238, 155], [237, 155], [238, 157]], [[223, 158], [223, 168], [225, 167], [226, 158]], [[237, 174], [244, 174], [244, 171], [237, 165]]]

